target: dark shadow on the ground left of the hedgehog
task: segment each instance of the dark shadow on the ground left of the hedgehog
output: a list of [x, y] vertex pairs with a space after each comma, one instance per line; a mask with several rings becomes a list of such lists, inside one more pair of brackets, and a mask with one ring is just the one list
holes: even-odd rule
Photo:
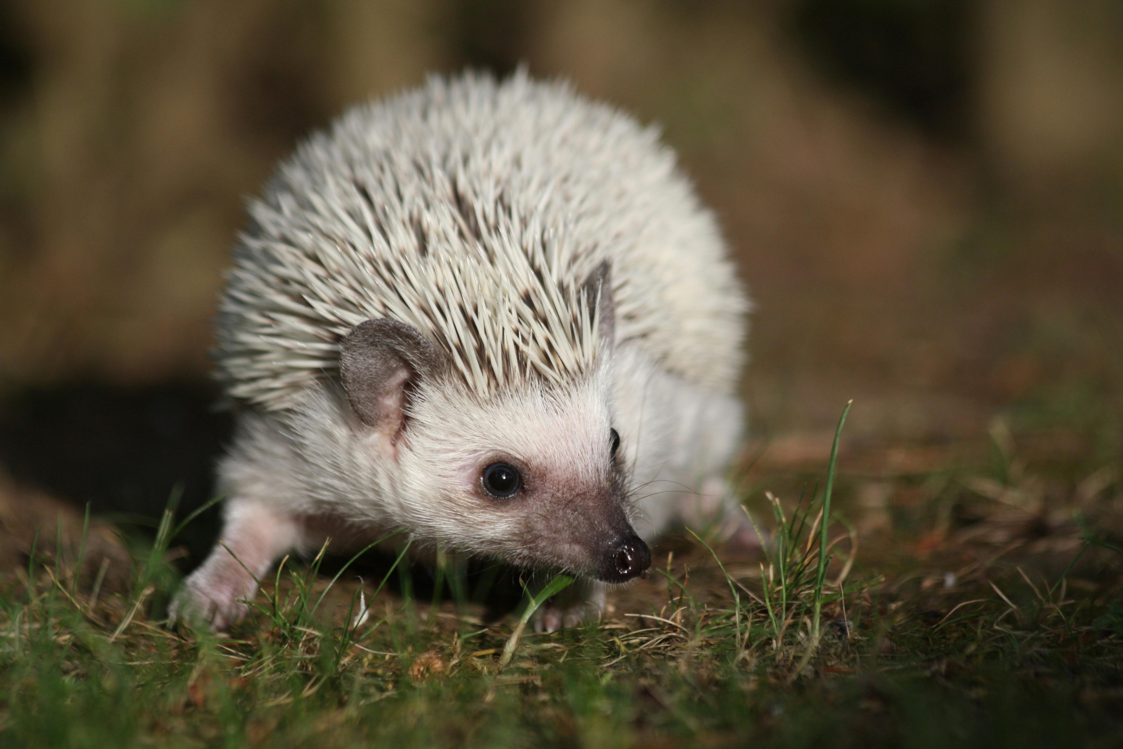
[[[152, 527], [173, 492], [180, 515], [213, 496], [214, 462], [232, 427], [217, 401], [207, 382], [19, 391], [0, 402], [0, 466], [75, 508]], [[184, 531], [180, 541], [193, 557], [210, 544], [217, 519], [212, 509]]]

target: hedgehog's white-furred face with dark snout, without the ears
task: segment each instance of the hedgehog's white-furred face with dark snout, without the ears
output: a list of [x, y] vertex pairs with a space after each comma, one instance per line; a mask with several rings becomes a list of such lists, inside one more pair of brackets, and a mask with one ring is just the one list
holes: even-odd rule
[[646, 570], [610, 399], [609, 367], [573, 386], [532, 384], [485, 403], [456, 387], [426, 392], [396, 458], [401, 499], [426, 508], [414, 530], [610, 583]]

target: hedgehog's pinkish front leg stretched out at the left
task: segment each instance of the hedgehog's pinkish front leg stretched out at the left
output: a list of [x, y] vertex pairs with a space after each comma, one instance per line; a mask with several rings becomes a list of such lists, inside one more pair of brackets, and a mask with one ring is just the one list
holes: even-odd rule
[[188, 577], [168, 612], [173, 620], [209, 622], [222, 630], [249, 610], [244, 603], [274, 560], [300, 541], [295, 519], [249, 500], [229, 500], [222, 536], [199, 569]]

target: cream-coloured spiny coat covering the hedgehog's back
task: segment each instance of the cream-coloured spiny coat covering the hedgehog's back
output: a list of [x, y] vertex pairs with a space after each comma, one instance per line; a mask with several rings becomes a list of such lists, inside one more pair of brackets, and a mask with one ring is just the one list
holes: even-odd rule
[[591, 369], [585, 281], [611, 262], [618, 341], [736, 383], [748, 301], [713, 217], [652, 128], [560, 83], [468, 74], [356, 108], [249, 207], [216, 360], [230, 395], [292, 405], [355, 325], [389, 317], [481, 396]]

